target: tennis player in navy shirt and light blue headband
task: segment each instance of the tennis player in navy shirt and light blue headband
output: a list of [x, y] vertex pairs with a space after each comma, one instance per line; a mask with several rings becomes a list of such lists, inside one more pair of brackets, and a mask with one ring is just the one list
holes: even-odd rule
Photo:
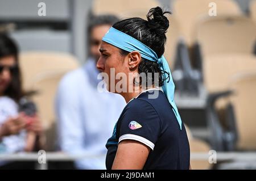
[[[169, 27], [164, 16], [167, 13], [170, 12], [155, 7], [148, 12], [147, 20], [121, 20], [102, 39], [97, 68], [108, 77], [112, 68], [115, 75], [125, 73], [129, 77], [134, 73], [125, 86], [139, 88], [111, 90], [121, 94], [127, 105], [106, 144], [107, 169], [189, 169], [187, 133], [174, 102], [175, 86], [163, 56]], [[143, 89], [143, 81], [136, 73], [159, 76], [146, 77]]]

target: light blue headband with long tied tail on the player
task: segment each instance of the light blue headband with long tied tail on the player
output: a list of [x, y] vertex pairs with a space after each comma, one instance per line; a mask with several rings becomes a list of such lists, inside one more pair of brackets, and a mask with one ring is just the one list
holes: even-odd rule
[[[174, 102], [175, 85], [174, 85], [174, 81], [172, 81], [171, 70], [169, 68], [168, 62], [166, 61], [166, 58], [164, 58], [164, 56], [158, 58], [154, 50], [152, 50], [151, 48], [141, 43], [141, 41], [138, 41], [137, 39], [134, 39], [134, 37], [131, 37], [121, 31], [118, 31], [113, 27], [109, 29], [106, 35], [102, 38], [102, 41], [105, 41], [106, 43], [112, 44], [115, 47], [126, 50], [127, 52], [138, 51], [139, 53], [141, 53], [141, 56], [143, 58], [145, 58], [146, 60], [158, 62], [158, 65], [160, 66], [160, 68], [164, 71], [167, 71], [170, 74], [170, 79], [169, 80], [167, 79], [166, 81], [164, 81], [164, 85], [162, 86], [162, 89], [172, 106], [172, 110], [175, 113], [175, 116], [177, 118], [177, 121], [181, 129], [181, 123], [182, 123], [181, 117], [177, 110], [177, 106]], [[165, 77], [166, 75], [163, 75], [163, 76]]]

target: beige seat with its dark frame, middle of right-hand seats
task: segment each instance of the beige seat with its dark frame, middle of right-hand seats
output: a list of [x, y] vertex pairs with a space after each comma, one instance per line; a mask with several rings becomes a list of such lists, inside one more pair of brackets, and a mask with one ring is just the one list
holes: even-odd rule
[[[215, 54], [203, 61], [204, 85], [209, 92], [207, 100], [208, 126], [212, 131], [211, 144], [216, 150], [232, 150], [230, 134], [224, 133], [233, 124], [227, 119], [229, 114], [230, 81], [240, 73], [256, 71], [256, 57], [253, 54]], [[224, 142], [225, 139], [225, 142]]]

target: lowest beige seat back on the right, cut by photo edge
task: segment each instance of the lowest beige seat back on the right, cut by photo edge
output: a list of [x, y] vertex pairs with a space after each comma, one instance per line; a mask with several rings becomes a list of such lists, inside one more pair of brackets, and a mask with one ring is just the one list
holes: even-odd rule
[[238, 150], [256, 150], [256, 70], [253, 73], [238, 74], [230, 83], [234, 94], [231, 103], [234, 108]]

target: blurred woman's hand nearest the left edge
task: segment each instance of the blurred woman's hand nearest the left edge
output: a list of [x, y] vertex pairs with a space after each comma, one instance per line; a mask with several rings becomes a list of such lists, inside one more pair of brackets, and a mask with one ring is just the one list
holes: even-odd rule
[[22, 115], [10, 117], [0, 127], [0, 137], [17, 134], [26, 125], [26, 121]]

